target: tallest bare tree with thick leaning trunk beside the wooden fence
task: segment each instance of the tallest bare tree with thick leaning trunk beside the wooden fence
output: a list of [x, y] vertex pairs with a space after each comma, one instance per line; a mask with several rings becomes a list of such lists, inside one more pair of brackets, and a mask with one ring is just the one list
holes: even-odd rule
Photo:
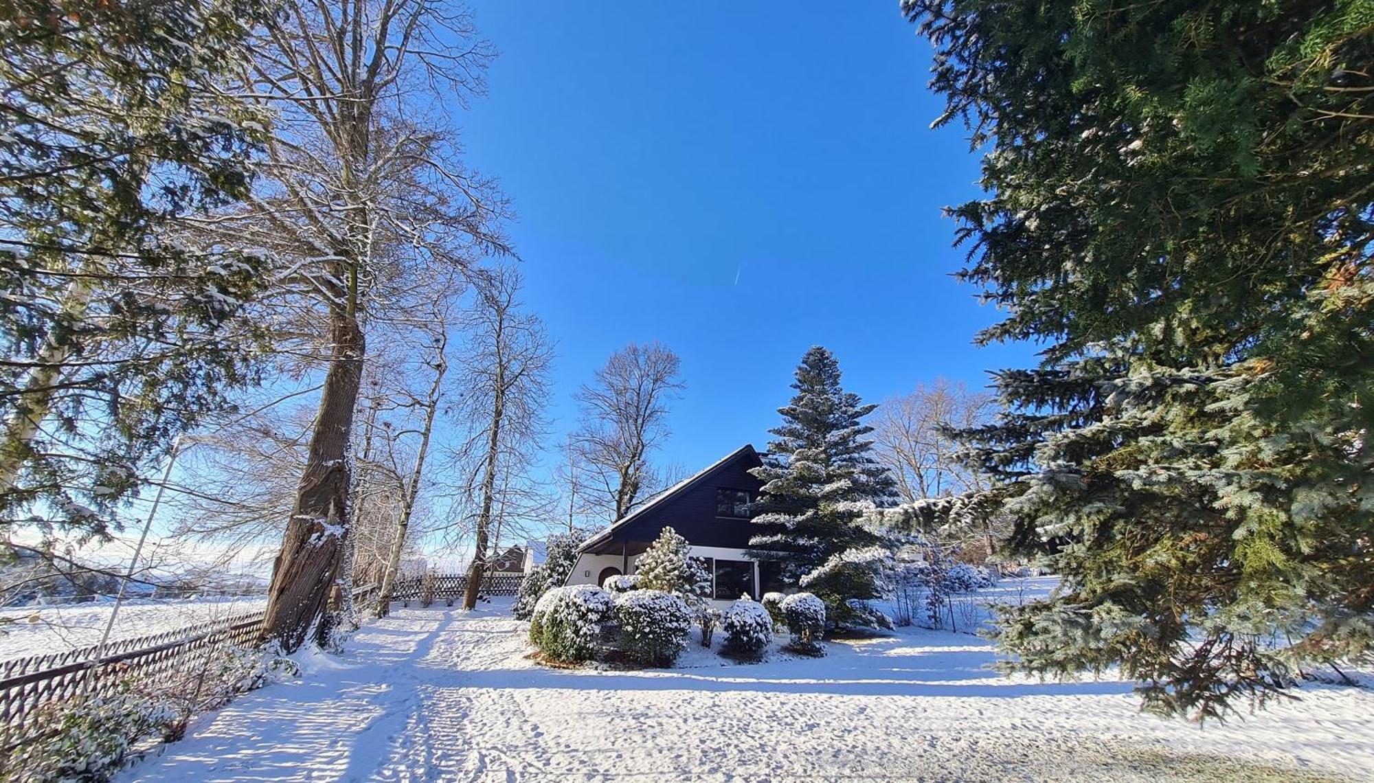
[[495, 187], [425, 111], [482, 89], [491, 51], [466, 12], [430, 0], [289, 0], [278, 19], [257, 41], [249, 85], [275, 111], [257, 191], [246, 210], [202, 228], [269, 253], [302, 331], [323, 324], [327, 370], [264, 624], [295, 650], [324, 628], [339, 587], [368, 319], [390, 288], [471, 272], [506, 246]]

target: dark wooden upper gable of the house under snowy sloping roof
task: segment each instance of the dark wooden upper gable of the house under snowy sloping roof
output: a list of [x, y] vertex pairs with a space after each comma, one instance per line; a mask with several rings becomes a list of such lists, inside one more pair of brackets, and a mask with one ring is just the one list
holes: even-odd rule
[[747, 519], [717, 517], [717, 490], [742, 489], [757, 497], [763, 482], [749, 468], [760, 464], [758, 452], [752, 445], [742, 446], [592, 537], [583, 551], [638, 555], [664, 527], [677, 530], [697, 547], [742, 549], [754, 534], [753, 526]]

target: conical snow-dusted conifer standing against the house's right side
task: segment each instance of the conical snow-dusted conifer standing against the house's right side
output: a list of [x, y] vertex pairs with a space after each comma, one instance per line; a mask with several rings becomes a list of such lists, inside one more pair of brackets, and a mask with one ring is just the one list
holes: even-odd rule
[[[752, 556], [776, 560], [783, 580], [798, 584], [835, 555], [879, 544], [860, 523], [864, 511], [894, 497], [894, 482], [871, 456], [872, 431], [860, 423], [877, 408], [840, 386], [840, 364], [820, 346], [801, 357], [791, 401], [779, 408], [783, 423], [769, 430], [764, 482], [754, 503]], [[818, 580], [808, 589], [826, 600], [833, 620], [844, 620], [845, 599], [877, 598], [872, 578]], [[841, 589], [844, 585], [845, 589]]]

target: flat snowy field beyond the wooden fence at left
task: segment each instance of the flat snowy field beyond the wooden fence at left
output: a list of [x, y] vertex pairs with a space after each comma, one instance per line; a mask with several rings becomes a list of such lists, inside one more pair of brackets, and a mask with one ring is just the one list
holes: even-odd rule
[[[120, 607], [110, 639], [147, 636], [267, 606], [265, 598], [137, 599]], [[0, 609], [0, 661], [98, 644], [113, 600]]]

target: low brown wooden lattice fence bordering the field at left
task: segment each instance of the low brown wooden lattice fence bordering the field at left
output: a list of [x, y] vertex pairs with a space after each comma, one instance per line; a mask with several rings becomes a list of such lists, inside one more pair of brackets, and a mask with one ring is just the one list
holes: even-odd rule
[[[376, 598], [376, 585], [353, 591], [360, 607]], [[0, 779], [7, 760], [49, 735], [55, 718], [76, 699], [124, 694], [170, 696], [187, 714], [218, 706], [240, 683], [225, 666], [234, 650], [253, 650], [264, 610], [187, 625], [162, 633], [121, 639], [47, 655], [0, 661]]]

